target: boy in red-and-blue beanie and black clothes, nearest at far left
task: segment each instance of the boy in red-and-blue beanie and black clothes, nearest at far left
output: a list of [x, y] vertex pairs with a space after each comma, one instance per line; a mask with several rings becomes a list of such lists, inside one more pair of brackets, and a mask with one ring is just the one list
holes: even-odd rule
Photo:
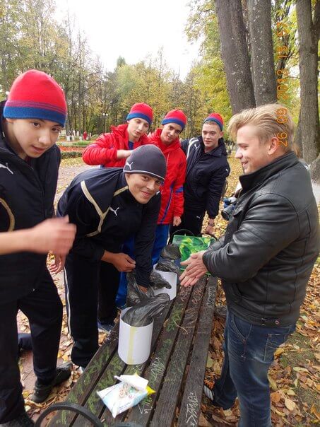
[[[55, 143], [66, 121], [64, 92], [42, 71], [27, 71], [13, 82], [1, 116], [0, 231], [10, 232], [35, 227], [54, 214], [60, 163]], [[62, 304], [46, 259], [30, 252], [0, 256], [1, 426], [33, 425], [25, 413], [17, 363], [18, 310], [30, 323], [37, 375], [31, 399], [43, 402], [71, 374], [70, 364], [57, 368]], [[64, 259], [56, 261], [58, 271]]]

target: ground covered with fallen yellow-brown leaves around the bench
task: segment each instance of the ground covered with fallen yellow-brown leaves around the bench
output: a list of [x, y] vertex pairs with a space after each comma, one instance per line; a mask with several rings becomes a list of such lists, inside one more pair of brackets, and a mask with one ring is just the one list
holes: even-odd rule
[[[228, 196], [235, 189], [237, 177], [241, 173], [241, 168], [237, 160], [230, 158], [230, 165], [232, 167], [232, 174], [228, 178]], [[62, 160], [56, 200], [59, 199], [72, 178], [86, 168], [89, 167], [83, 165], [81, 158]], [[223, 218], [220, 216], [216, 218], [215, 235], [220, 236], [226, 226], [227, 223]], [[273, 426], [275, 427], [320, 425], [319, 278], [320, 265], [317, 264], [309, 281], [307, 296], [302, 306], [300, 320], [297, 323], [297, 331], [285, 346], [276, 351], [275, 362], [270, 371], [271, 411]], [[55, 278], [55, 283], [65, 306], [64, 286], [61, 274]], [[217, 303], [225, 303], [223, 291], [220, 287]], [[18, 315], [18, 324], [20, 332], [28, 332], [28, 320], [22, 314]], [[211, 385], [213, 385], [215, 378], [218, 378], [223, 361], [223, 327], [223, 320], [215, 320], [206, 370], [206, 381]], [[100, 334], [100, 342], [104, 339], [105, 334]], [[71, 339], [68, 337], [64, 307], [64, 323], [61, 331], [58, 363], [69, 361], [70, 351]], [[26, 407], [34, 419], [49, 404], [66, 399], [66, 395], [80, 375], [75, 368], [70, 380], [61, 385], [61, 387], [56, 387], [45, 404], [34, 404], [28, 400], [35, 380], [32, 372], [32, 354], [30, 352], [23, 353], [20, 358], [20, 370], [25, 386], [23, 394], [25, 396]], [[223, 411], [212, 406], [208, 399], [203, 396], [199, 426], [236, 426], [238, 417], [239, 409], [237, 403], [232, 409]]]

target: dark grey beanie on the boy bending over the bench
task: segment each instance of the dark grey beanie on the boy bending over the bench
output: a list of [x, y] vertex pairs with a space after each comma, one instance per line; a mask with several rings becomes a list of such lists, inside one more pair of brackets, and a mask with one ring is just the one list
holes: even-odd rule
[[132, 151], [124, 165], [126, 173], [142, 173], [165, 180], [167, 164], [160, 148], [153, 144], [140, 146]]

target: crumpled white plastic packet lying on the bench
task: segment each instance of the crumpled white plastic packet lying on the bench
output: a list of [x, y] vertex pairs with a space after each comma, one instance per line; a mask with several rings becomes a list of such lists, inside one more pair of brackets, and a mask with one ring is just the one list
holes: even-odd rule
[[140, 377], [137, 373], [120, 375], [119, 377], [114, 375], [114, 378], [120, 382], [97, 392], [114, 418], [141, 402], [149, 394], [155, 393], [155, 390], [148, 387], [148, 380]]

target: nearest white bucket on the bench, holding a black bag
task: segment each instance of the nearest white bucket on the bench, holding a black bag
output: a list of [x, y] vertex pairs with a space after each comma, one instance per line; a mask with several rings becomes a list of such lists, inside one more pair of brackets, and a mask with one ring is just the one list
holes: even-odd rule
[[122, 310], [120, 317], [118, 353], [127, 365], [139, 365], [146, 362], [150, 356], [153, 321], [147, 326], [130, 326], [122, 320], [129, 308]]

